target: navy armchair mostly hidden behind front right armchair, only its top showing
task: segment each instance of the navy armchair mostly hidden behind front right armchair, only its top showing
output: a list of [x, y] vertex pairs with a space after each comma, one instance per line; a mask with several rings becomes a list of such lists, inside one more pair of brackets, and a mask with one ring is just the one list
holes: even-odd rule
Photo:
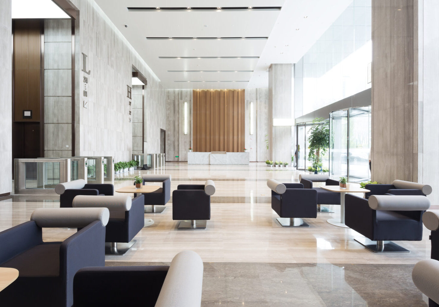
[[371, 192], [366, 193], [366, 199], [372, 195], [422, 195], [432, 193], [432, 187], [417, 182], [393, 180], [392, 184], [367, 184], [365, 188]]

